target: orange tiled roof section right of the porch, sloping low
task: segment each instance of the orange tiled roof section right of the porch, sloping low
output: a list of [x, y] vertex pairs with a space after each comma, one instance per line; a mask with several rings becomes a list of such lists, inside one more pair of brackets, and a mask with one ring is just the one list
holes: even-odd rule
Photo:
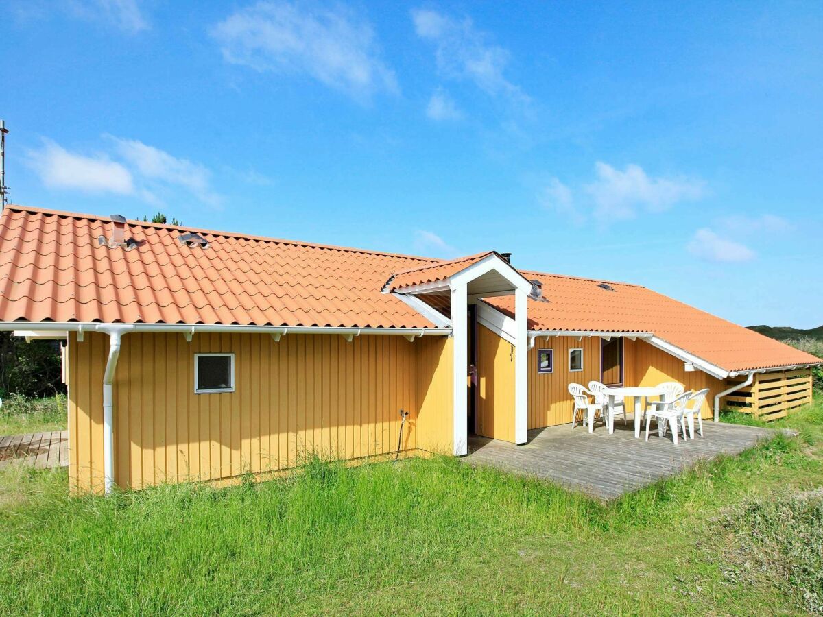
[[[640, 285], [523, 272], [543, 284], [543, 300], [529, 301], [530, 330], [652, 332], [654, 336], [728, 371], [823, 360], [705, 313]], [[514, 317], [514, 299], [486, 299]]]

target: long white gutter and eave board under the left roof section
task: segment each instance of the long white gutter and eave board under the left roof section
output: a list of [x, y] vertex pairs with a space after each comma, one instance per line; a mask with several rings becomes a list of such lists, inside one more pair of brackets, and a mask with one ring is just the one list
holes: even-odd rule
[[235, 334], [365, 334], [399, 336], [450, 336], [451, 328], [434, 327], [315, 327], [315, 326], [223, 326], [202, 323], [99, 323], [99, 322], [0, 322], [0, 332], [232, 332]]

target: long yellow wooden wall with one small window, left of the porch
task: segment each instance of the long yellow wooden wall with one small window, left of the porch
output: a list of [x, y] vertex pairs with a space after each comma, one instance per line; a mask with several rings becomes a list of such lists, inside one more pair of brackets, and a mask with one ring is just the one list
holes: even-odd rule
[[[194, 354], [235, 354], [235, 392], [194, 394]], [[102, 379], [108, 337], [69, 341], [70, 476], [103, 484]], [[448, 369], [447, 369], [448, 367]], [[421, 379], [418, 379], [418, 373]], [[114, 381], [115, 481], [142, 488], [277, 471], [306, 452], [356, 458], [416, 448], [417, 401], [430, 443], [452, 440], [445, 337], [133, 333]]]

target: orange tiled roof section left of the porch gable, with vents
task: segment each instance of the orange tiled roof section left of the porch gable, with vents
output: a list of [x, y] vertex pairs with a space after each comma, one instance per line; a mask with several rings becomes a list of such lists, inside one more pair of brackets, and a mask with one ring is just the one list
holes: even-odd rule
[[0, 321], [435, 327], [380, 288], [437, 262], [128, 221], [130, 251], [99, 246], [98, 216], [7, 206], [0, 216]]

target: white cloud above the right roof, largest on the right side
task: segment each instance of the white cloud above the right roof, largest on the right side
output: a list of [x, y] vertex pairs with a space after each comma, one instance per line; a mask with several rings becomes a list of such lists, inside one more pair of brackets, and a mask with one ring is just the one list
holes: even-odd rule
[[586, 192], [594, 202], [594, 215], [600, 220], [630, 219], [640, 207], [651, 212], [664, 211], [677, 202], [700, 199], [705, 186], [700, 179], [650, 177], [639, 165], [615, 169], [598, 161], [597, 179]]

